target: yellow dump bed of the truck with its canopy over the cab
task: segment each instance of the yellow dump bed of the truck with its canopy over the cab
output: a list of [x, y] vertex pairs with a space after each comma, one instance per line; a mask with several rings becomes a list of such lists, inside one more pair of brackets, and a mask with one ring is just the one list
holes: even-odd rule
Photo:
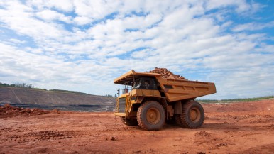
[[157, 73], [135, 72], [131, 70], [114, 79], [115, 84], [131, 85], [134, 78], [155, 77], [160, 84], [160, 92], [165, 93], [169, 102], [183, 99], [194, 99], [207, 94], [216, 93], [215, 84], [212, 82], [197, 82], [187, 79], [165, 79]]

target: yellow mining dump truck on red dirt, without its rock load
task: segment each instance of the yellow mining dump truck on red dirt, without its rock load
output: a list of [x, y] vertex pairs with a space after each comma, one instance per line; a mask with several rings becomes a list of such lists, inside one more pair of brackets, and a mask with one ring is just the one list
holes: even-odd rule
[[164, 123], [175, 121], [185, 128], [200, 128], [204, 109], [195, 99], [216, 93], [211, 82], [166, 79], [158, 73], [131, 70], [114, 79], [118, 89], [115, 115], [127, 126], [147, 131], [159, 130]]

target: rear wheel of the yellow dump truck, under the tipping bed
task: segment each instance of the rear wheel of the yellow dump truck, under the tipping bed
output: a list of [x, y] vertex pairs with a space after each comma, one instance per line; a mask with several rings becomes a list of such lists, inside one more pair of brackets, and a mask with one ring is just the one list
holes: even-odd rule
[[197, 101], [188, 101], [182, 105], [182, 114], [175, 116], [176, 123], [185, 128], [200, 128], [204, 123], [204, 109]]

